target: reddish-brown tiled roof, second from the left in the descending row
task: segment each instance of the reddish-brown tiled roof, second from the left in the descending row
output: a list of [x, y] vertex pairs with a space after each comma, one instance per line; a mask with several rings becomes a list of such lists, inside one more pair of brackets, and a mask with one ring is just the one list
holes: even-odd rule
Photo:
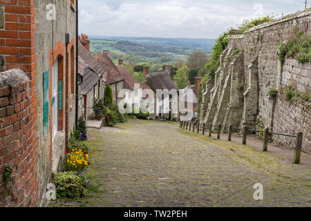
[[110, 57], [107, 55], [94, 55], [94, 57], [106, 69], [106, 72], [102, 76], [106, 84], [114, 84], [124, 80], [124, 77], [119, 73], [119, 70], [117, 70], [117, 67]]

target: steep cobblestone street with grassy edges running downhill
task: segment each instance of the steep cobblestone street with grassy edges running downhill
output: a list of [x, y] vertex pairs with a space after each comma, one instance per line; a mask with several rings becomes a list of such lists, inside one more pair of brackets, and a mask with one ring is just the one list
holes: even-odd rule
[[[311, 168], [251, 146], [131, 120], [90, 130], [86, 199], [52, 206], [311, 206]], [[254, 200], [254, 184], [263, 200]]]

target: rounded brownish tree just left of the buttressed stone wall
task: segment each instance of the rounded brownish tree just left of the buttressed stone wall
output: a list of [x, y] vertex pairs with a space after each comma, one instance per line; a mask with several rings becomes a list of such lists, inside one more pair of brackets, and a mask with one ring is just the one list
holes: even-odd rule
[[198, 70], [198, 75], [202, 76], [205, 74], [205, 65], [209, 61], [209, 56], [204, 52], [195, 51], [189, 55], [187, 59], [187, 66], [190, 69]]

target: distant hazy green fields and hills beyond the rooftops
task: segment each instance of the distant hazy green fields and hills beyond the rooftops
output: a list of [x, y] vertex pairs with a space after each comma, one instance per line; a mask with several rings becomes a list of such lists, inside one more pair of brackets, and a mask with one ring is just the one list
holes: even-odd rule
[[214, 39], [164, 39], [164, 38], [135, 38], [135, 37], [92, 37], [90, 36], [90, 51], [102, 54], [110, 50], [111, 58], [117, 64], [117, 59], [133, 60], [138, 64], [166, 64], [178, 59], [187, 59], [194, 51], [211, 54], [215, 44]]

